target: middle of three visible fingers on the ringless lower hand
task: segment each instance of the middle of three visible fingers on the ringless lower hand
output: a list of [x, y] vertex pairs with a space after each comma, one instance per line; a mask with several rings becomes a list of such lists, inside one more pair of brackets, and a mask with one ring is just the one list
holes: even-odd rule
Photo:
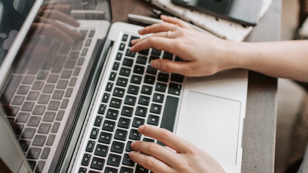
[[141, 153], [151, 155], [156, 159], [170, 165], [171, 167], [176, 166], [178, 162], [174, 161], [177, 155], [175, 152], [158, 145], [153, 142], [135, 141], [131, 143], [131, 148], [134, 151], [140, 151]]

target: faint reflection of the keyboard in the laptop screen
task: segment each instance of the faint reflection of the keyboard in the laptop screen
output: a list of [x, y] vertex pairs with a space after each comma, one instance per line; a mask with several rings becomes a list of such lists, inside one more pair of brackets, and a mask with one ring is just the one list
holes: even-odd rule
[[79, 89], [77, 78], [83, 78], [90, 59], [86, 57], [93, 51], [95, 30], [78, 32], [83, 37], [74, 44], [51, 40], [45, 59], [34, 58], [28, 67], [17, 68], [1, 99], [14, 108], [7, 117], [16, 123], [18, 142], [35, 173], [49, 169], [71, 109], [68, 105], [76, 96], [73, 91]]

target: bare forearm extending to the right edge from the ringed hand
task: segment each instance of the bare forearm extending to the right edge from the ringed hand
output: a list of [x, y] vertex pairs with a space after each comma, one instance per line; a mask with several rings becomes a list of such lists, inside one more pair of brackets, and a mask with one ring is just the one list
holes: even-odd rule
[[308, 82], [308, 40], [240, 43], [234, 55], [233, 67]]

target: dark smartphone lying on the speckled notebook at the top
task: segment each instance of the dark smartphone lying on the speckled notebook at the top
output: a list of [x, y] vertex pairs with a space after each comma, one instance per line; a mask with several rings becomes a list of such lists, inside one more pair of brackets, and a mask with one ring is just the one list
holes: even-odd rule
[[172, 0], [172, 2], [245, 26], [257, 25], [262, 6], [262, 0]]

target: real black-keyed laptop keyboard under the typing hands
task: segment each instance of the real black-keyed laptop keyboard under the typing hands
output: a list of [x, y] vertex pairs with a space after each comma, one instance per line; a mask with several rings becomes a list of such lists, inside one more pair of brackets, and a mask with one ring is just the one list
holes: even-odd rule
[[129, 159], [130, 144], [135, 140], [162, 143], [141, 135], [138, 127], [147, 124], [173, 131], [184, 76], [156, 70], [150, 61], [182, 59], [156, 49], [130, 52], [130, 40], [139, 37], [123, 34], [121, 38], [98, 94], [101, 101], [93, 107], [97, 112], [89, 120], [86, 142], [80, 146], [79, 173], [148, 173]]

